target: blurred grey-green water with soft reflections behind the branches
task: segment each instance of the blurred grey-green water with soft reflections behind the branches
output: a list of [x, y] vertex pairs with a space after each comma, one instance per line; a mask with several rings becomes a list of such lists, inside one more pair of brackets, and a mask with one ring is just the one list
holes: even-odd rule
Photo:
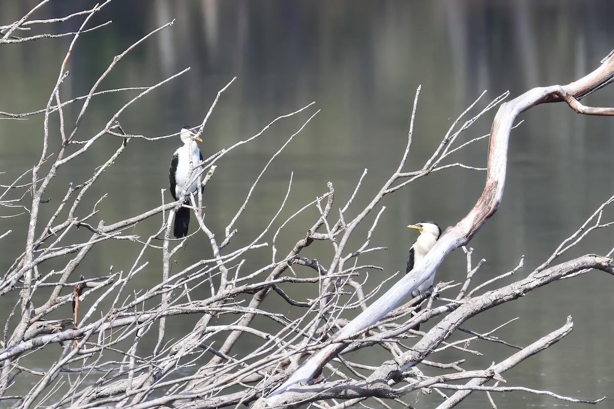
[[[36, 4], [29, 0], [0, 2], [0, 25], [18, 20]], [[32, 19], [63, 17], [93, 4], [53, 0], [37, 10]], [[419, 85], [422, 90], [406, 171], [422, 167], [453, 121], [484, 90], [488, 93], [467, 118], [505, 91], [516, 97], [535, 86], [569, 83], [593, 71], [614, 48], [612, 12], [614, 3], [607, 0], [116, 0], [96, 13], [88, 26], [108, 20], [112, 24], [83, 34], [77, 43], [61, 96], [68, 100], [87, 94], [115, 55], [174, 20], [173, 26], [125, 56], [99, 86], [99, 90], [149, 86], [191, 67], [127, 109], [119, 118], [126, 132], [155, 137], [177, 132], [185, 124], [201, 123], [216, 93], [235, 76], [237, 79], [222, 94], [204, 128], [200, 147], [205, 157], [257, 134], [274, 118], [315, 101], [313, 107], [279, 121], [255, 142], [232, 151], [217, 163], [219, 167], [205, 192], [205, 222], [217, 237], [223, 237], [225, 226], [243, 204], [266, 161], [310, 115], [321, 110], [271, 164], [238, 221], [239, 234], [230, 251], [250, 242], [268, 224], [286, 194], [291, 174], [289, 202], [275, 229], [325, 193], [328, 181], [335, 186], [336, 206], [343, 207], [363, 169], [368, 169], [346, 220], [360, 212], [398, 165]], [[37, 25], [29, 34], [76, 31], [82, 21], [79, 17], [54, 25]], [[44, 108], [70, 41], [65, 37], [0, 46], [0, 111], [21, 113]], [[583, 102], [612, 106], [613, 92], [614, 88], [608, 86]], [[98, 132], [137, 93], [95, 97], [76, 139], [88, 139]], [[69, 131], [80, 109], [79, 103], [66, 109]], [[488, 134], [494, 114], [492, 110], [484, 115], [462, 134], [458, 143]], [[486, 259], [476, 275], [476, 284], [513, 269], [523, 255], [524, 269], [505, 283], [526, 277], [614, 193], [612, 118], [586, 117], [564, 104], [546, 104], [524, 113], [521, 119], [524, 122], [511, 136], [503, 202], [470, 242], [470, 247], [475, 248], [474, 261]], [[39, 159], [42, 121], [42, 115], [21, 121], [0, 120], [2, 185], [12, 183]], [[53, 143], [59, 139], [57, 125], [54, 115]], [[87, 155], [63, 167], [47, 192], [53, 199], [49, 209], [43, 207], [42, 214], [48, 217], [68, 183], [87, 180], [119, 144], [114, 137], [103, 137]], [[111, 224], [160, 204], [160, 189], [168, 190], [168, 164], [179, 144], [177, 137], [155, 142], [131, 140], [125, 153], [96, 183], [99, 190], [90, 192], [79, 214], [87, 214], [105, 193], [108, 196], [99, 205], [100, 213], [93, 224], [99, 220]], [[484, 166], [487, 145], [484, 139], [446, 163]], [[50, 147], [50, 153], [56, 153], [57, 146]], [[371, 279], [404, 272], [408, 249], [416, 239], [416, 232], [405, 226], [420, 220], [435, 220], [443, 228], [457, 223], [475, 204], [484, 177], [484, 172], [473, 170], [443, 170], [385, 197], [381, 205], [386, 206], [386, 211], [371, 245], [389, 250], [368, 253], [359, 261], [384, 267], [384, 272], [371, 271]], [[10, 197], [17, 196], [15, 193]], [[165, 192], [165, 200], [170, 199]], [[26, 194], [23, 200], [28, 205], [30, 196]], [[21, 211], [2, 208], [0, 212], [0, 216], [7, 216]], [[304, 237], [316, 217], [317, 210], [310, 208], [282, 231], [278, 259]], [[363, 242], [373, 217], [375, 214], [356, 233], [354, 246]], [[603, 221], [612, 219], [612, 211], [608, 210]], [[13, 231], [0, 240], [0, 267], [6, 271], [23, 251], [28, 217], [26, 214], [0, 220], [0, 234]], [[160, 219], [155, 218], [135, 226], [128, 234], [147, 237], [159, 224]], [[193, 222], [190, 232], [194, 229]], [[85, 231], [74, 234], [89, 237]], [[611, 229], [597, 231], [565, 254], [564, 259], [586, 253], [605, 254], [613, 247], [613, 236]], [[87, 256], [79, 272], [96, 277], [107, 273], [110, 266], [115, 271], [129, 270], [140, 248], [138, 243], [103, 243]], [[327, 245], [318, 243], [301, 255], [317, 258], [326, 266], [330, 253]], [[270, 248], [254, 254], [249, 269], [271, 261]], [[176, 254], [177, 268], [211, 256], [208, 240], [201, 232]], [[149, 266], [133, 280], [135, 289], [148, 288], [160, 280], [160, 254], [148, 250], [146, 261]], [[54, 262], [56, 265], [45, 268], [63, 268], [62, 261]], [[295, 270], [313, 275], [312, 270]], [[461, 250], [448, 256], [437, 277], [436, 281], [464, 279], [465, 258]], [[531, 292], [468, 321], [464, 327], [489, 331], [519, 317], [494, 335], [525, 346], [562, 326], [565, 318], [572, 315], [572, 334], [503, 377], [507, 386], [597, 399], [614, 389], [610, 346], [614, 327], [608, 318], [614, 307], [613, 288], [611, 277], [589, 272]], [[6, 315], [17, 296], [9, 294], [0, 300]], [[269, 305], [271, 310], [276, 307], [274, 302]], [[281, 304], [280, 308], [283, 311], [279, 312], [288, 313], [287, 305]], [[299, 315], [298, 310], [289, 313], [290, 318]], [[173, 320], [171, 325], [183, 334], [190, 331], [193, 322], [191, 318]], [[425, 329], [429, 325], [432, 324]], [[466, 358], [465, 369], [480, 369], [514, 352], [485, 342], [473, 342], [470, 348], [484, 356], [445, 352], [429, 359], [451, 362]], [[369, 364], [389, 358], [385, 351], [371, 349]], [[45, 368], [40, 361], [28, 359], [20, 363]], [[432, 369], [424, 368], [424, 372], [432, 373]], [[30, 384], [16, 387], [23, 387], [25, 392]], [[437, 406], [441, 399], [435, 395], [420, 397], [416, 406]], [[495, 395], [494, 400], [499, 408], [567, 407], [551, 397], [524, 392]], [[474, 393], [463, 407], [487, 405], [484, 394]], [[606, 406], [607, 403], [603, 407]]]

